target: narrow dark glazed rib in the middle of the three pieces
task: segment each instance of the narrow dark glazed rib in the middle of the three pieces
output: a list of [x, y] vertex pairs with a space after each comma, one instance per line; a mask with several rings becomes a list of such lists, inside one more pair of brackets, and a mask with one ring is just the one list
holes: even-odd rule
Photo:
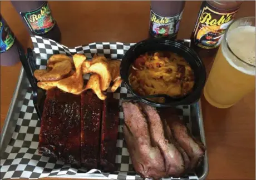
[[81, 163], [88, 169], [99, 162], [102, 103], [91, 91], [81, 94]]

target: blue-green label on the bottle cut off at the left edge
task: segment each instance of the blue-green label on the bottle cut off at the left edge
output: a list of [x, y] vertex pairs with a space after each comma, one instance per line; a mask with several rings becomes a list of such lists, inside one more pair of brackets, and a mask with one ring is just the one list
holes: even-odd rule
[[6, 52], [9, 48], [12, 47], [14, 43], [14, 35], [11, 29], [4, 24], [4, 22], [0, 21], [0, 42], [1, 42], [1, 50], [0, 53]]

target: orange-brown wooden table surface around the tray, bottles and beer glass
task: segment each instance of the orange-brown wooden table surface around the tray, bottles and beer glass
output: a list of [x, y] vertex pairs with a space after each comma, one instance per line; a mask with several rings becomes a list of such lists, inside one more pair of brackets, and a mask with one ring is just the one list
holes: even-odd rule
[[[178, 34], [189, 38], [201, 1], [188, 1]], [[62, 44], [78, 46], [91, 42], [138, 42], [147, 38], [149, 1], [50, 2], [62, 33]], [[10, 2], [1, 1], [1, 14], [24, 47], [31, 39]], [[255, 1], [246, 1], [238, 17], [255, 16]], [[207, 71], [213, 59], [203, 59]], [[16, 87], [21, 63], [1, 67], [1, 129]], [[209, 156], [207, 179], [255, 179], [255, 91], [228, 109], [211, 106], [201, 97]]]

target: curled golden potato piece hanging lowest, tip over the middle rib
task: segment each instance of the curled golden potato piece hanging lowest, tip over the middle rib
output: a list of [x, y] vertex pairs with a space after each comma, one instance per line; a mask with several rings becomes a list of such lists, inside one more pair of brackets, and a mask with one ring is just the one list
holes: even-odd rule
[[105, 94], [101, 92], [100, 89], [100, 76], [98, 74], [92, 74], [89, 81], [86, 84], [85, 90], [92, 89], [92, 91], [97, 95], [102, 101], [107, 98]]

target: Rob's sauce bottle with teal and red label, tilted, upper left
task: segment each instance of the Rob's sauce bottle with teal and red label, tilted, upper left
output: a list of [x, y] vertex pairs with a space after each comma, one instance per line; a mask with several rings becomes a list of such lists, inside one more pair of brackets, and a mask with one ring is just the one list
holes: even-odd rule
[[61, 32], [47, 1], [12, 1], [30, 34], [61, 41]]

